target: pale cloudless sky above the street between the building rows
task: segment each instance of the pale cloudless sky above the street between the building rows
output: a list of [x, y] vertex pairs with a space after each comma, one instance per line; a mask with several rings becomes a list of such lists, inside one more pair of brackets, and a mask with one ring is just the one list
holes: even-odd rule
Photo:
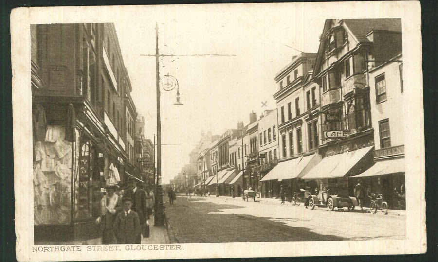
[[[123, 12], [123, 10], [120, 10]], [[161, 89], [162, 180], [168, 183], [184, 164], [201, 132], [221, 135], [274, 109], [275, 75], [302, 52], [317, 52], [326, 18], [301, 4], [184, 5], [141, 8], [115, 18], [123, 59], [145, 135], [156, 134], [155, 23], [164, 54], [234, 54], [161, 58], [160, 77], [178, 79], [176, 89]], [[290, 46], [290, 47], [288, 47]], [[291, 47], [299, 50], [296, 51]], [[262, 107], [267, 102], [267, 107]]]

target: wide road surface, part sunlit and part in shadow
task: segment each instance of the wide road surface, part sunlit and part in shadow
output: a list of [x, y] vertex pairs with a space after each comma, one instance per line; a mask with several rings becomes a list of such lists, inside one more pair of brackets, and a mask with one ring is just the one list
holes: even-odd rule
[[305, 209], [278, 199], [178, 195], [166, 203], [171, 243], [405, 239], [402, 210]]

